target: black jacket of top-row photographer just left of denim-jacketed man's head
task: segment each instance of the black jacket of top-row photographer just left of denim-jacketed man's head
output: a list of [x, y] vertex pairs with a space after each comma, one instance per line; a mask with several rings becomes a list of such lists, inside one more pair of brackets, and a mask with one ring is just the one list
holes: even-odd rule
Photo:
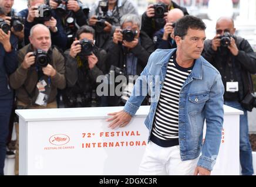
[[[183, 11], [184, 15], [188, 15], [187, 9], [177, 5], [175, 2], [172, 2], [173, 8], [178, 8]], [[171, 7], [172, 7], [171, 6]], [[157, 30], [160, 30], [166, 25], [166, 21], [163, 18], [154, 19], [147, 17], [146, 12], [142, 15], [142, 30], [147, 33], [147, 35], [153, 39], [154, 33], [157, 32]]]

